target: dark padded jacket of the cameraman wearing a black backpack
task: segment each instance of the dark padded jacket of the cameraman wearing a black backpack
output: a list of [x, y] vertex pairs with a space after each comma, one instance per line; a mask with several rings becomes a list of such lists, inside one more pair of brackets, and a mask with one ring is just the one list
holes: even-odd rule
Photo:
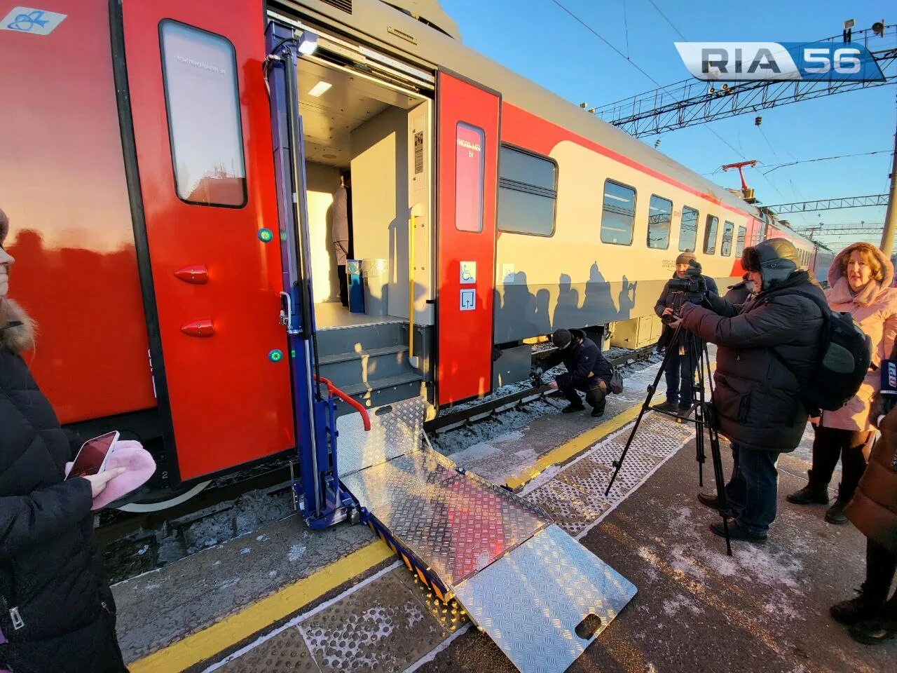
[[686, 304], [682, 311], [684, 328], [719, 346], [713, 377], [719, 432], [748, 449], [794, 450], [804, 434], [807, 414], [795, 374], [806, 380], [814, 368], [823, 313], [798, 290], [823, 299], [809, 274], [795, 271], [740, 306], [711, 295], [712, 310]]

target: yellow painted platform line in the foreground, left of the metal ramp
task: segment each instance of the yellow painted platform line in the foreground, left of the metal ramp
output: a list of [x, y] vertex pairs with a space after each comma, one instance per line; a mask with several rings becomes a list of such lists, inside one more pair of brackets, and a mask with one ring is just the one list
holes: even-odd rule
[[382, 541], [371, 542], [308, 577], [295, 581], [266, 599], [244, 607], [196, 634], [154, 651], [128, 665], [131, 673], [178, 673], [257, 634], [290, 616], [356, 575], [394, 556]]

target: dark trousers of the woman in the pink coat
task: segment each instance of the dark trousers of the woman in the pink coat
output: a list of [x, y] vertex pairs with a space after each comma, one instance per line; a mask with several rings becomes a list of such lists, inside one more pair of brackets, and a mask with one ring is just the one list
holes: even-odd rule
[[841, 483], [838, 498], [847, 502], [857, 491], [859, 479], [866, 471], [874, 432], [858, 432], [814, 425], [813, 474], [814, 485], [828, 485], [841, 461]]

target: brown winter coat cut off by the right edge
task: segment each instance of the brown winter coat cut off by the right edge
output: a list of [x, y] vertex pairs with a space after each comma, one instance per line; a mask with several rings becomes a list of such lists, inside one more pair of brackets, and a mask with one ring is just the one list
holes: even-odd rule
[[882, 436], [844, 513], [863, 535], [897, 554], [897, 407], [884, 416], [879, 430]]

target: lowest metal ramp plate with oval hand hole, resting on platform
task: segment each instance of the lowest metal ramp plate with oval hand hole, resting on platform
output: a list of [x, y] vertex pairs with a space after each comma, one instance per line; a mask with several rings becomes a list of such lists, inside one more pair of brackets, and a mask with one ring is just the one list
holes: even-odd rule
[[[455, 588], [474, 623], [521, 673], [562, 673], [635, 596], [604, 561], [550, 526]], [[576, 627], [589, 614], [588, 638]]]

